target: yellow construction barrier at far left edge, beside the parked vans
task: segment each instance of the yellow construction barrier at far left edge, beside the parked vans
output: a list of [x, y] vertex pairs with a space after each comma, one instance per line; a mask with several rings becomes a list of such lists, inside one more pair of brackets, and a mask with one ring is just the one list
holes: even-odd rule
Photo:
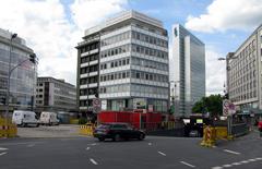
[[17, 135], [16, 124], [12, 123], [10, 119], [8, 125], [5, 123], [5, 119], [0, 118], [0, 137], [15, 137]]

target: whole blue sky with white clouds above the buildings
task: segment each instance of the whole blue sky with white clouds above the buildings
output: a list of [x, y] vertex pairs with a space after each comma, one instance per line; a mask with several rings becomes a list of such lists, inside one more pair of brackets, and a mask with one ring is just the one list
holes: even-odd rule
[[226, 65], [217, 59], [262, 24], [262, 0], [0, 0], [0, 28], [26, 40], [39, 58], [39, 76], [75, 85], [74, 47], [84, 31], [124, 10], [160, 20], [169, 37], [179, 23], [205, 44], [206, 95], [225, 89]]

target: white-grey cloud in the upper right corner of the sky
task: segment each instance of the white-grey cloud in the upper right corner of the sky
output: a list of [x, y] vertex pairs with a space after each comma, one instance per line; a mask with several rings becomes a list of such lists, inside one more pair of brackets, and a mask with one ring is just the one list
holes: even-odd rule
[[262, 23], [261, 0], [214, 0], [205, 14], [188, 16], [186, 27], [198, 32], [253, 29]]

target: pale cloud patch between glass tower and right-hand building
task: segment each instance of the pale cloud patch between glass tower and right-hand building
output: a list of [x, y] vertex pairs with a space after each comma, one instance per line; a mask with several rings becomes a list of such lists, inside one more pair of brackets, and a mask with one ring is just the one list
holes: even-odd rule
[[205, 51], [207, 96], [211, 94], [224, 94], [224, 84], [226, 83], [226, 62], [218, 61], [218, 58], [225, 58], [225, 56], [207, 47]]

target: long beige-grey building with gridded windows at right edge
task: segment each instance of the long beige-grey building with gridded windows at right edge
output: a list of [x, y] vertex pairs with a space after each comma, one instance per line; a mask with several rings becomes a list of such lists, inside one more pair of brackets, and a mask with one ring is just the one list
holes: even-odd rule
[[242, 111], [262, 109], [262, 25], [227, 55], [229, 99]]

